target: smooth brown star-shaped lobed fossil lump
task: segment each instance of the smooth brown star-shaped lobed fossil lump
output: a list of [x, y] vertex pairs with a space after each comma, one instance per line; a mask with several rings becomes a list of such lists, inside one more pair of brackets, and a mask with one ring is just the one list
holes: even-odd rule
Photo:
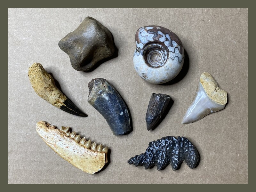
[[61, 39], [59, 47], [77, 71], [90, 71], [98, 61], [115, 52], [112, 34], [92, 17], [86, 17], [76, 30]]

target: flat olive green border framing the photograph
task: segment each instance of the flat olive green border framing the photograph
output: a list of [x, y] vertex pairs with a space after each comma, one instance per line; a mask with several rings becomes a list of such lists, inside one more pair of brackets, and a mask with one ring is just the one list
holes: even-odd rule
[[[151, 3], [150, 3], [151, 2]], [[44, 8], [48, 8], [48, 7], [56, 7], [56, 8], [62, 8], [62, 7], [74, 7], [74, 8], [81, 8], [81, 7], [125, 7], [125, 8], [133, 8], [133, 7], [170, 7], [170, 8], [177, 8], [177, 7], [234, 7], [234, 8], [249, 8], [248, 9], [248, 16], [249, 16], [249, 22], [251, 22], [252, 25], [250, 25], [249, 27], [249, 33], [253, 34], [250, 37], [250, 43], [249, 43], [249, 53], [254, 52], [253, 50], [253, 45], [255, 43], [255, 26], [253, 23], [255, 23], [255, 19], [252, 18], [256, 18], [255, 16], [255, 8], [253, 8], [253, 4], [249, 3], [249, 1], [224, 1], [224, 0], [214, 0], [214, 1], [188, 1], [188, 0], [181, 0], [181, 1], [164, 1], [163, 2], [159, 2], [159, 1], [139, 1], [139, 0], [129, 0], [129, 1], [117, 1], [117, 2], [110, 2], [110, 0], [97, 0], [97, 1], [66, 1], [66, 3], [64, 3], [64, 1], [60, 1], [60, 2], [54, 2], [54, 1], [7, 1], [5, 4], [2, 4], [1, 6], [1, 20], [2, 20], [2, 25], [3, 26], [8, 26], [8, 8], [30, 8], [30, 7], [44, 7]], [[19, 19], [19, 18], [17, 18]], [[249, 25], [249, 24], [248, 24]], [[8, 47], [8, 28], [7, 30], [1, 30], [1, 35], [2, 37], [6, 37], [6, 38], [2, 38], [2, 43], [6, 44], [6, 47]], [[4, 47], [4, 46], [2, 46]], [[5, 54], [3, 54], [3, 61], [2, 61], [2, 70], [1, 70], [1, 82], [2, 82], [2, 88], [5, 90], [8, 90], [8, 49], [3, 49], [3, 52]], [[248, 53], [248, 54], [249, 54]], [[252, 54], [251, 54], [252, 55]], [[253, 62], [253, 58], [249, 58], [249, 61], [251, 60], [251, 62]], [[248, 63], [249, 63], [248, 61]], [[255, 63], [255, 61], [254, 61]], [[249, 65], [249, 72], [248, 72], [248, 81], [250, 81], [251, 83], [249, 83], [249, 85], [251, 86], [251, 90], [250, 90], [250, 95], [254, 95], [253, 94], [253, 87], [255, 87], [254, 83], [255, 81], [255, 75], [253, 76], [252, 73], [255, 72], [255, 66], [254, 65]], [[5, 135], [8, 134], [7, 129], [5, 127], [8, 127], [8, 113], [6, 112], [6, 108], [8, 110], [8, 105], [6, 100], [8, 100], [8, 92], [6, 93], [7, 97], [5, 96], [5, 94], [1, 95], [1, 104], [2, 104], [2, 135], [4, 135], [4, 137], [2, 136], [2, 146], [6, 146], [2, 148], [2, 151], [5, 151], [5, 154], [8, 154], [8, 137], [6, 137]], [[249, 145], [249, 152], [251, 151], [252, 153], [250, 153], [248, 155], [249, 158], [249, 163], [250, 166], [248, 165], [248, 185], [211, 185], [211, 187], [209, 185], [86, 185], [86, 186], [82, 186], [82, 185], [76, 185], [75, 186], [71, 186], [71, 185], [43, 185], [40, 186], [40, 188], [38, 187], [38, 185], [13, 185], [13, 184], [8, 184], [8, 156], [1, 158], [1, 164], [2, 164], [2, 171], [1, 171], [1, 183], [2, 186], [1, 188], [8, 188], [8, 190], [22, 190], [25, 189], [26, 191], [41, 191], [41, 190], [45, 190], [45, 189], [56, 189], [56, 190], [61, 190], [61, 191], [66, 191], [66, 190], [92, 190], [94, 191], [99, 191], [99, 190], [103, 190], [103, 191], [126, 191], [126, 190], [143, 190], [143, 191], [160, 191], [160, 190], [165, 190], [165, 191], [171, 191], [171, 190], [197, 190], [197, 191], [209, 191], [209, 190], [216, 190], [216, 189], [221, 189], [222, 190], [232, 190], [232, 191], [247, 191], [246, 189], [252, 188], [253, 184], [254, 184], [254, 172], [255, 172], [255, 165], [254, 165], [254, 160], [255, 160], [255, 155], [253, 154], [255, 149], [252, 148], [253, 143], [251, 142], [252, 137], [254, 137], [255, 135], [255, 125], [252, 122], [252, 108], [255, 107], [255, 101], [250, 100], [250, 108], [248, 109], [251, 113], [248, 113], [248, 118], [249, 118], [249, 127], [248, 127], [248, 137], [249, 137], [249, 141], [248, 141], [248, 145]], [[251, 121], [250, 121], [251, 120]], [[255, 144], [254, 144], [255, 145]], [[250, 150], [251, 149], [251, 150]], [[227, 159], [228, 161], [228, 159]], [[157, 179], [157, 178], [156, 178]], [[254, 182], [253, 182], [254, 181]], [[251, 186], [250, 186], [251, 185]], [[75, 188], [74, 188], [75, 187]]]

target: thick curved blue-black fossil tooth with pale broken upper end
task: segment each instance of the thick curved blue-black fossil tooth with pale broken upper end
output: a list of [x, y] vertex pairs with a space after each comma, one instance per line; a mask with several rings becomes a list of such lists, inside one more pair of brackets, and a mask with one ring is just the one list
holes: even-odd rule
[[131, 130], [130, 116], [124, 100], [106, 79], [96, 78], [88, 84], [88, 102], [106, 119], [114, 135]]

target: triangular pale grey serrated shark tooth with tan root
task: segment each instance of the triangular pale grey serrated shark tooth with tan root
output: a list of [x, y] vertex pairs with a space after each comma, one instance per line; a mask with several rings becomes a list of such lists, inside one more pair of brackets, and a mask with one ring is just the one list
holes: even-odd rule
[[204, 116], [225, 108], [228, 93], [220, 87], [213, 77], [204, 72], [200, 76], [195, 99], [183, 117], [182, 124], [193, 123]]

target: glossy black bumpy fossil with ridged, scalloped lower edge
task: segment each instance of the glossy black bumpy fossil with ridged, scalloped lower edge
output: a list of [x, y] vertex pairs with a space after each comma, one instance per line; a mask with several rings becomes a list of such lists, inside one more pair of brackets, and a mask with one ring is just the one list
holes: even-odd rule
[[197, 166], [198, 161], [199, 154], [187, 138], [179, 136], [176, 139], [167, 136], [160, 140], [151, 141], [145, 153], [132, 157], [128, 163], [134, 164], [136, 167], [144, 165], [145, 169], [156, 165], [159, 171], [169, 163], [172, 165], [172, 170], [176, 170], [182, 162], [193, 169]]

